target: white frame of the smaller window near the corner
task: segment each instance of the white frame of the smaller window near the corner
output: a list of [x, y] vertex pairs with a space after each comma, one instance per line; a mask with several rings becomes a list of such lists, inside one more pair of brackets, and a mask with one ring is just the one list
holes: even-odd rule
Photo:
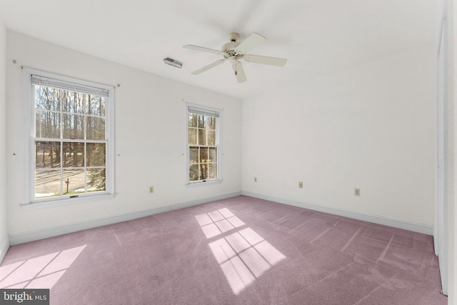
[[[189, 144], [189, 109], [199, 109], [202, 112], [207, 112], [209, 114], [216, 113], [219, 115], [216, 119], [216, 179], [206, 179], [206, 180], [198, 180], [198, 181], [190, 181], [189, 180], [189, 168], [190, 168], [190, 146], [198, 146], [198, 145], [190, 145]], [[221, 166], [221, 156], [222, 156], [222, 149], [221, 149], [221, 121], [222, 121], [222, 110], [211, 108], [208, 106], [202, 106], [199, 104], [191, 104], [186, 103], [186, 185], [203, 185], [203, 184], [211, 184], [214, 182], [221, 182], [222, 181], [222, 166]]]

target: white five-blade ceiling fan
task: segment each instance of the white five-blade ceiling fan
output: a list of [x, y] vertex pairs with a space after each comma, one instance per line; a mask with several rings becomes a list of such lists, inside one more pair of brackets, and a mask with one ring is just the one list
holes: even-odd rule
[[235, 72], [236, 80], [238, 81], [238, 83], [242, 83], [247, 79], [246, 74], [244, 73], [243, 66], [241, 65], [240, 59], [244, 59], [245, 61], [253, 62], [256, 64], [268, 64], [271, 66], [284, 66], [286, 64], [287, 59], [246, 54], [247, 51], [250, 51], [251, 49], [255, 48], [260, 44], [263, 44], [263, 42], [266, 41], [266, 38], [261, 36], [260, 34], [254, 33], [251, 36], [249, 36], [248, 39], [241, 43], [238, 42], [238, 38], [238, 33], [230, 33], [230, 41], [224, 44], [224, 46], [222, 46], [221, 51], [204, 48], [203, 46], [194, 46], [193, 44], [186, 44], [185, 46], [183, 46], [183, 48], [185, 49], [218, 54], [224, 57], [224, 59], [214, 61], [214, 63], [209, 64], [208, 66], [204, 66], [203, 68], [192, 72], [192, 74], [201, 74], [202, 72], [214, 68], [215, 66], [224, 64], [224, 62], [226, 61], [230, 61], [231, 66], [233, 68], [233, 72]]

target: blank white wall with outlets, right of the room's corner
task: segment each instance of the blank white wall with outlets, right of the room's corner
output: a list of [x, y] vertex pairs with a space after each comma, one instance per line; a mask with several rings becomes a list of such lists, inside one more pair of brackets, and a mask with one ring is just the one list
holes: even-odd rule
[[244, 100], [243, 194], [426, 225], [432, 234], [434, 50], [423, 46]]

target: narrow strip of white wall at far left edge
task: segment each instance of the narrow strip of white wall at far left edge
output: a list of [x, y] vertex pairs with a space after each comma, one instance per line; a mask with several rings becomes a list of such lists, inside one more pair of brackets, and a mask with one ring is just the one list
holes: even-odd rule
[[0, 262], [9, 247], [6, 216], [6, 28], [0, 18]]

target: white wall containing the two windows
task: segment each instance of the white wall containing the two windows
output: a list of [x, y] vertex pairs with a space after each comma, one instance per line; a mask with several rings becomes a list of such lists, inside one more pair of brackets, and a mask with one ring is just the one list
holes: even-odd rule
[[[6, 45], [6, 124], [9, 135], [7, 171], [11, 241], [14, 236], [34, 231], [173, 204], [241, 194], [240, 100], [11, 31], [7, 32]], [[120, 84], [116, 87], [115, 199], [43, 209], [21, 209], [24, 189], [21, 66], [102, 84]], [[164, 69], [175, 68], [165, 66]], [[183, 99], [194, 104], [224, 109], [221, 126], [224, 154], [221, 160], [221, 183], [193, 187], [184, 185], [186, 103]], [[16, 156], [13, 156], [13, 153]], [[154, 194], [149, 194], [149, 186], [154, 186]]]

